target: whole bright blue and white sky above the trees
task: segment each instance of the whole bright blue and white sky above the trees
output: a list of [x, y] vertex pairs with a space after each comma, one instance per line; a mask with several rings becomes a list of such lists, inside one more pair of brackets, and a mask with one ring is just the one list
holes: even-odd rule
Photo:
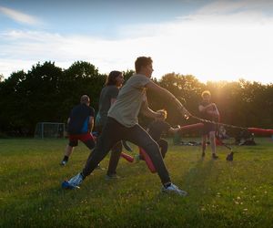
[[100, 73], [152, 57], [153, 77], [273, 83], [270, 0], [0, 0], [0, 74], [88, 61]]

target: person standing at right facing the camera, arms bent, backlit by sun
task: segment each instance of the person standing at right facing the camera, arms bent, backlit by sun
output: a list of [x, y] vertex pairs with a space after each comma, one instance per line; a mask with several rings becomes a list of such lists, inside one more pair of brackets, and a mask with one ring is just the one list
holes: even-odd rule
[[[216, 104], [210, 102], [210, 92], [208, 90], [205, 90], [204, 92], [202, 92], [201, 97], [202, 101], [198, 106], [201, 118], [217, 122], [219, 118], [219, 112]], [[216, 130], [216, 124], [204, 122], [204, 128], [202, 132], [202, 158], [204, 158], [206, 155], [207, 136], [210, 141], [212, 158], [215, 160], [218, 158], [216, 154]]]

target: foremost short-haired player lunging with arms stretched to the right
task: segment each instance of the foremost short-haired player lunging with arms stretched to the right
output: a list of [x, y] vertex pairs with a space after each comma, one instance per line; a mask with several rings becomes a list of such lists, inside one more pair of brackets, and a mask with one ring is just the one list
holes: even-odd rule
[[162, 113], [149, 109], [147, 102], [147, 89], [165, 97], [174, 103], [178, 112], [183, 116], [191, 116], [180, 101], [167, 89], [157, 86], [150, 78], [153, 72], [153, 61], [150, 57], [137, 57], [135, 62], [136, 74], [126, 81], [116, 98], [116, 102], [108, 111], [106, 125], [96, 144], [95, 150], [86, 161], [86, 167], [69, 181], [64, 181], [62, 187], [66, 189], [78, 188], [88, 175], [102, 161], [116, 142], [128, 140], [141, 147], [153, 162], [157, 174], [162, 182], [162, 192], [174, 192], [181, 196], [187, 192], [178, 189], [170, 180], [167, 168], [162, 159], [157, 142], [153, 140], [146, 130], [138, 124], [137, 116], [141, 111], [150, 118], [161, 117]]

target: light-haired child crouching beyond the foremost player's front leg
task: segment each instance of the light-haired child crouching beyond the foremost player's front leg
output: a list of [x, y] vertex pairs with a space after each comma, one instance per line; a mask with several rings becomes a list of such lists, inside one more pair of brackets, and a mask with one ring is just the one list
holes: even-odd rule
[[[157, 144], [160, 148], [160, 152], [162, 158], [164, 159], [167, 153], [168, 143], [167, 140], [163, 140], [161, 138], [164, 132], [176, 133], [178, 130], [181, 130], [180, 126], [178, 125], [177, 128], [172, 128], [169, 123], [167, 123], [167, 110], [160, 109], [157, 110], [158, 113], [162, 113], [161, 117], [157, 117], [154, 121], [152, 121], [148, 127], [147, 132], [153, 138], [153, 140], [157, 141]], [[141, 154], [138, 155], [139, 160], [144, 160]]]

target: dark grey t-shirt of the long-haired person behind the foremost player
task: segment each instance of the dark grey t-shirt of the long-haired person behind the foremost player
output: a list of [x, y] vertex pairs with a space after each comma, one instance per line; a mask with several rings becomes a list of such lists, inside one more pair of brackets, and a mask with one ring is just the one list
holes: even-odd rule
[[104, 126], [106, 124], [108, 110], [111, 107], [111, 99], [116, 98], [119, 89], [115, 85], [106, 86], [100, 92], [98, 114], [97, 114], [97, 126]]

